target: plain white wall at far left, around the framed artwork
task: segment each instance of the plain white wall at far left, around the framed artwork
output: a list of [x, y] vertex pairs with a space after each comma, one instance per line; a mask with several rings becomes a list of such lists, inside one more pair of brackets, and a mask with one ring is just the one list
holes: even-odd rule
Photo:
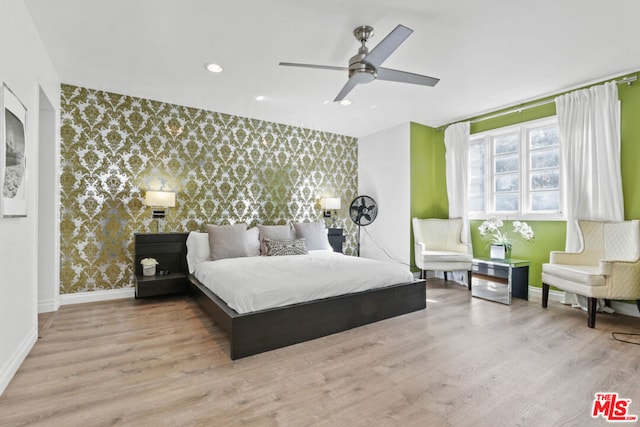
[[0, 0], [0, 80], [27, 107], [27, 217], [0, 218], [2, 393], [37, 339], [40, 88], [60, 111], [60, 81], [21, 0]]

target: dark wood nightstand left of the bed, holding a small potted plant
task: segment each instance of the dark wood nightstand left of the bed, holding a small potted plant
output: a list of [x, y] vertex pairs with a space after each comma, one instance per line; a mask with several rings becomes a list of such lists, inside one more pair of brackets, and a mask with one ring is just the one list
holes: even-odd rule
[[[187, 290], [187, 233], [135, 234], [136, 298], [181, 293]], [[143, 276], [140, 260], [158, 261], [155, 276]], [[168, 274], [160, 273], [168, 270]]]

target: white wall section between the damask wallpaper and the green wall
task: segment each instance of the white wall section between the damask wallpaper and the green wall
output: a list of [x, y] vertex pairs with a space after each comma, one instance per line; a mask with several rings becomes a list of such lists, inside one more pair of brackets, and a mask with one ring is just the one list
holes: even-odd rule
[[409, 123], [358, 140], [358, 193], [378, 202], [378, 217], [361, 231], [363, 257], [409, 264], [409, 161]]

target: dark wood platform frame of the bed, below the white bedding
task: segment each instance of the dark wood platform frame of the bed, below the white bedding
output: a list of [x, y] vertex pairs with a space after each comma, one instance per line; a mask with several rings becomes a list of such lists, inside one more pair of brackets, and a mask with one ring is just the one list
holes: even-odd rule
[[427, 306], [424, 280], [239, 314], [189, 275], [189, 288], [214, 322], [229, 334], [231, 359], [239, 359]]

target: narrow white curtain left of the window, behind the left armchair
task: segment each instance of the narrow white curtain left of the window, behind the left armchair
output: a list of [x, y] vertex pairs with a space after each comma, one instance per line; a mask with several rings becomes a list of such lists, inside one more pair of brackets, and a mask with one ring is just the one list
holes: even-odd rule
[[[462, 236], [464, 243], [471, 242], [469, 230], [469, 134], [470, 123], [454, 123], [444, 131], [446, 149], [447, 196], [449, 198], [449, 218], [462, 218]], [[454, 272], [454, 279], [464, 283], [467, 275]]]

